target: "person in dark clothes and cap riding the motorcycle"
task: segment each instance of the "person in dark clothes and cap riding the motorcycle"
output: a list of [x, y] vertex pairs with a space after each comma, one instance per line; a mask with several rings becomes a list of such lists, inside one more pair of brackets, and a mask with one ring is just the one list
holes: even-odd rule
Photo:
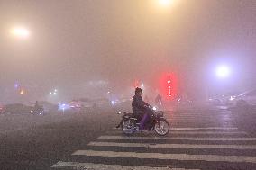
[[[139, 130], [142, 130], [144, 124], [146, 124], [148, 121], [151, 121], [151, 111], [147, 109], [148, 106], [150, 106], [150, 104], [145, 103], [142, 100], [142, 89], [137, 87], [135, 89], [135, 95], [133, 96], [132, 107], [133, 114], [138, 119], [138, 121], [140, 121]], [[149, 130], [151, 130], [151, 127]]]

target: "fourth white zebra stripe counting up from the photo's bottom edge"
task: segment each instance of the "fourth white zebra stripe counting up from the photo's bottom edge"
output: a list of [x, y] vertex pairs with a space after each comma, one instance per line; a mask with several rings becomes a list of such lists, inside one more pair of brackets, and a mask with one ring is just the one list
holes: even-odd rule
[[156, 139], [156, 140], [209, 140], [209, 141], [256, 141], [256, 138], [197, 138], [197, 137], [125, 137], [125, 136], [100, 136], [98, 139]]

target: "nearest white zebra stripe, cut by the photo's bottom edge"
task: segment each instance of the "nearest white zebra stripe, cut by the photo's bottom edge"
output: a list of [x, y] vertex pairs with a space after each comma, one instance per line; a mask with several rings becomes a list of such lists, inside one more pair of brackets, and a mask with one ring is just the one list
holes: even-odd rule
[[105, 165], [93, 163], [78, 163], [78, 162], [58, 162], [51, 166], [51, 168], [76, 168], [76, 169], [96, 169], [96, 170], [199, 170], [199, 169], [185, 169], [185, 168], [171, 168], [171, 167], [151, 167], [151, 166], [121, 166], [121, 165]]

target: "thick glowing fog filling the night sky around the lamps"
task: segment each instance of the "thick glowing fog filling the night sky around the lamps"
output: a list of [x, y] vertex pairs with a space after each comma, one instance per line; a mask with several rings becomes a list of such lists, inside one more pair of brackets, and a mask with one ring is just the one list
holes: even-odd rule
[[[15, 26], [26, 40], [10, 35]], [[254, 0], [0, 0], [0, 102], [133, 95], [140, 80], [156, 94], [178, 75], [178, 94], [204, 96], [256, 85]], [[219, 64], [231, 67], [215, 77]], [[14, 85], [18, 84], [24, 94]], [[151, 91], [151, 92], [150, 92]]]

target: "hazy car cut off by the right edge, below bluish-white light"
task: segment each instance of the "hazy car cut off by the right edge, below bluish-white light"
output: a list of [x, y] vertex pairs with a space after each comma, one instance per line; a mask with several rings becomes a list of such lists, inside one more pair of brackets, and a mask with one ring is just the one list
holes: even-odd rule
[[256, 89], [231, 96], [229, 103], [238, 107], [256, 105]]

